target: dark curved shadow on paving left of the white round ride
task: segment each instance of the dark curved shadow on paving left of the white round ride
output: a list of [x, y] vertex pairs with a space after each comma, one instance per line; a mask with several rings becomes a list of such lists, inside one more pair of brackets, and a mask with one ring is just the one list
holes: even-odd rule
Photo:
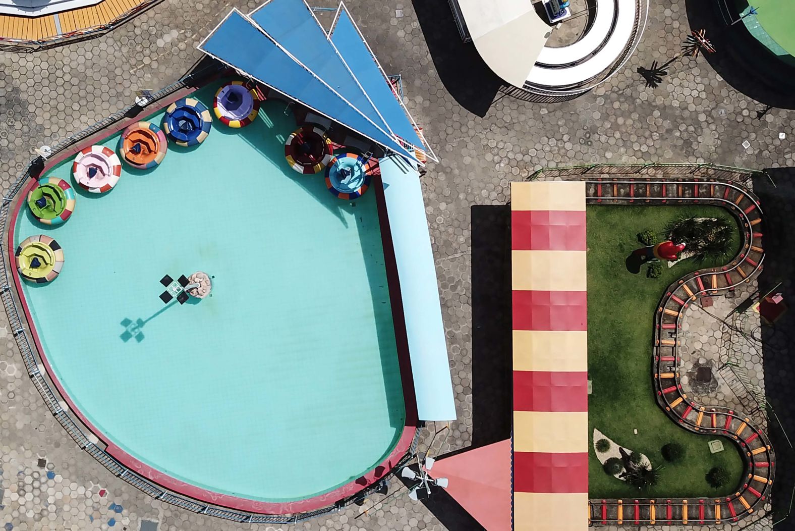
[[413, 0], [413, 4], [444, 87], [461, 107], [485, 116], [502, 80], [483, 62], [474, 44], [461, 41], [448, 0]]

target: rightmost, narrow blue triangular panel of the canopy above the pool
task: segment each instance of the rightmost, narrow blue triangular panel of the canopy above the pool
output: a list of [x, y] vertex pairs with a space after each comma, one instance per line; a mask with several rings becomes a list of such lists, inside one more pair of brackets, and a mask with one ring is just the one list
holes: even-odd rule
[[339, 13], [332, 28], [332, 42], [343, 56], [343, 60], [364, 91], [378, 108], [390, 130], [398, 137], [424, 151], [429, 151], [425, 142], [417, 135], [415, 123], [409, 111], [395, 97], [389, 79], [386, 78], [370, 46], [367, 45], [359, 28], [356, 27], [345, 6], [339, 6]]

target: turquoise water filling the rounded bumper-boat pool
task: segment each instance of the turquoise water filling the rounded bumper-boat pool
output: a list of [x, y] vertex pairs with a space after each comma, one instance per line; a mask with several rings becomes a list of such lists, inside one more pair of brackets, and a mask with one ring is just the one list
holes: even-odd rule
[[[211, 108], [216, 87], [194, 97]], [[125, 165], [102, 195], [76, 187], [69, 158], [45, 175], [78, 190], [71, 219], [48, 228], [23, 207], [15, 233], [64, 248], [60, 276], [23, 291], [83, 414], [150, 467], [267, 502], [358, 478], [405, 421], [375, 194], [354, 206], [289, 169], [293, 129], [266, 102], [250, 126], [169, 144], [157, 169]], [[211, 297], [161, 302], [161, 277], [196, 270]], [[140, 342], [122, 340], [126, 319], [144, 321]]]

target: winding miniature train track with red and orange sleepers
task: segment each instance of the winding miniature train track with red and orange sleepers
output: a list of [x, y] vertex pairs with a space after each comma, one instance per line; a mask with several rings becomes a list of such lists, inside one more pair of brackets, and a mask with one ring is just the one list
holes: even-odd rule
[[762, 208], [742, 184], [722, 179], [583, 179], [589, 204], [712, 204], [738, 220], [742, 245], [725, 266], [688, 273], [669, 285], [654, 316], [652, 374], [657, 404], [684, 429], [725, 436], [742, 451], [745, 471], [735, 494], [720, 498], [591, 499], [590, 525], [705, 525], [739, 521], [770, 498], [775, 455], [762, 428], [747, 415], [689, 399], [680, 382], [679, 353], [684, 310], [700, 297], [735, 289], [762, 269]]

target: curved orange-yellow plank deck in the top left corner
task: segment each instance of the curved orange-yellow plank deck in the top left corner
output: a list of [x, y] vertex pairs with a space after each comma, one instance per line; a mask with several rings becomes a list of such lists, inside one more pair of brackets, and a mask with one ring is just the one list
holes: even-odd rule
[[[91, 29], [113, 21], [142, 0], [103, 0], [95, 6], [46, 15], [44, 17], [14, 17], [0, 15], [0, 38], [41, 41], [67, 33]], [[60, 31], [59, 31], [60, 25]]]

